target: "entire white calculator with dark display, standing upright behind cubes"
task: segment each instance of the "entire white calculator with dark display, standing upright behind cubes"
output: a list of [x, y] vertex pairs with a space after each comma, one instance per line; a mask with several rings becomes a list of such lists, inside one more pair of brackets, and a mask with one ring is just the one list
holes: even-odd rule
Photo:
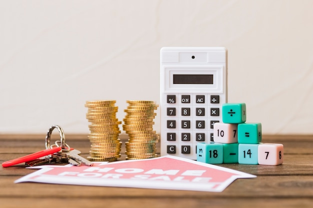
[[226, 102], [226, 48], [161, 48], [161, 156], [196, 160], [197, 143], [213, 141], [213, 124], [222, 122]]

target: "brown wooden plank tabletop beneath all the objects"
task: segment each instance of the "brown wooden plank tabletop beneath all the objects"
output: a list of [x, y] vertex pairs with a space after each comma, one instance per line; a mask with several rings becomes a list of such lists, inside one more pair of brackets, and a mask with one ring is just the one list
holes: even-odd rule
[[[0, 135], [0, 163], [44, 149], [45, 135]], [[51, 138], [51, 141], [53, 137]], [[126, 141], [126, 138], [122, 139]], [[237, 179], [221, 193], [169, 191], [13, 182], [34, 172], [23, 164], [0, 167], [0, 207], [144, 207], [144, 208], [305, 208], [313, 207], [313, 136], [263, 136], [284, 145], [280, 166], [221, 164], [256, 175]], [[86, 135], [66, 136], [66, 143], [89, 155]], [[124, 145], [121, 153], [124, 152]], [[159, 152], [159, 146], [158, 146]], [[124, 160], [122, 155], [120, 160]]]

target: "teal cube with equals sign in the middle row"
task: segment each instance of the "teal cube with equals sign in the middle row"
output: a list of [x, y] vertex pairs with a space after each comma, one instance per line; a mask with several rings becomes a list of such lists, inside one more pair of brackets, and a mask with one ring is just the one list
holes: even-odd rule
[[258, 144], [262, 141], [262, 126], [260, 123], [238, 124], [239, 144]]

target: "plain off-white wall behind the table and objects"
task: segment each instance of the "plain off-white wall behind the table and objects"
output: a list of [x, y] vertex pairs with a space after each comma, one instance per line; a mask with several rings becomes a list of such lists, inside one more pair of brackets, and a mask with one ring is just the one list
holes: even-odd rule
[[312, 11], [312, 0], [0, 0], [0, 134], [88, 133], [90, 99], [116, 100], [119, 120], [128, 99], [159, 103], [163, 46], [226, 47], [228, 102], [246, 103], [247, 122], [313, 134]]

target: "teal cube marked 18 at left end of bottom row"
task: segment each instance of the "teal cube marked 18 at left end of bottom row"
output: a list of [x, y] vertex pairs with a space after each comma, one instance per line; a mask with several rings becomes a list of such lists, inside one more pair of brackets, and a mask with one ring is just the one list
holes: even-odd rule
[[196, 145], [196, 161], [208, 164], [223, 163], [223, 145], [220, 143], [198, 143]]

